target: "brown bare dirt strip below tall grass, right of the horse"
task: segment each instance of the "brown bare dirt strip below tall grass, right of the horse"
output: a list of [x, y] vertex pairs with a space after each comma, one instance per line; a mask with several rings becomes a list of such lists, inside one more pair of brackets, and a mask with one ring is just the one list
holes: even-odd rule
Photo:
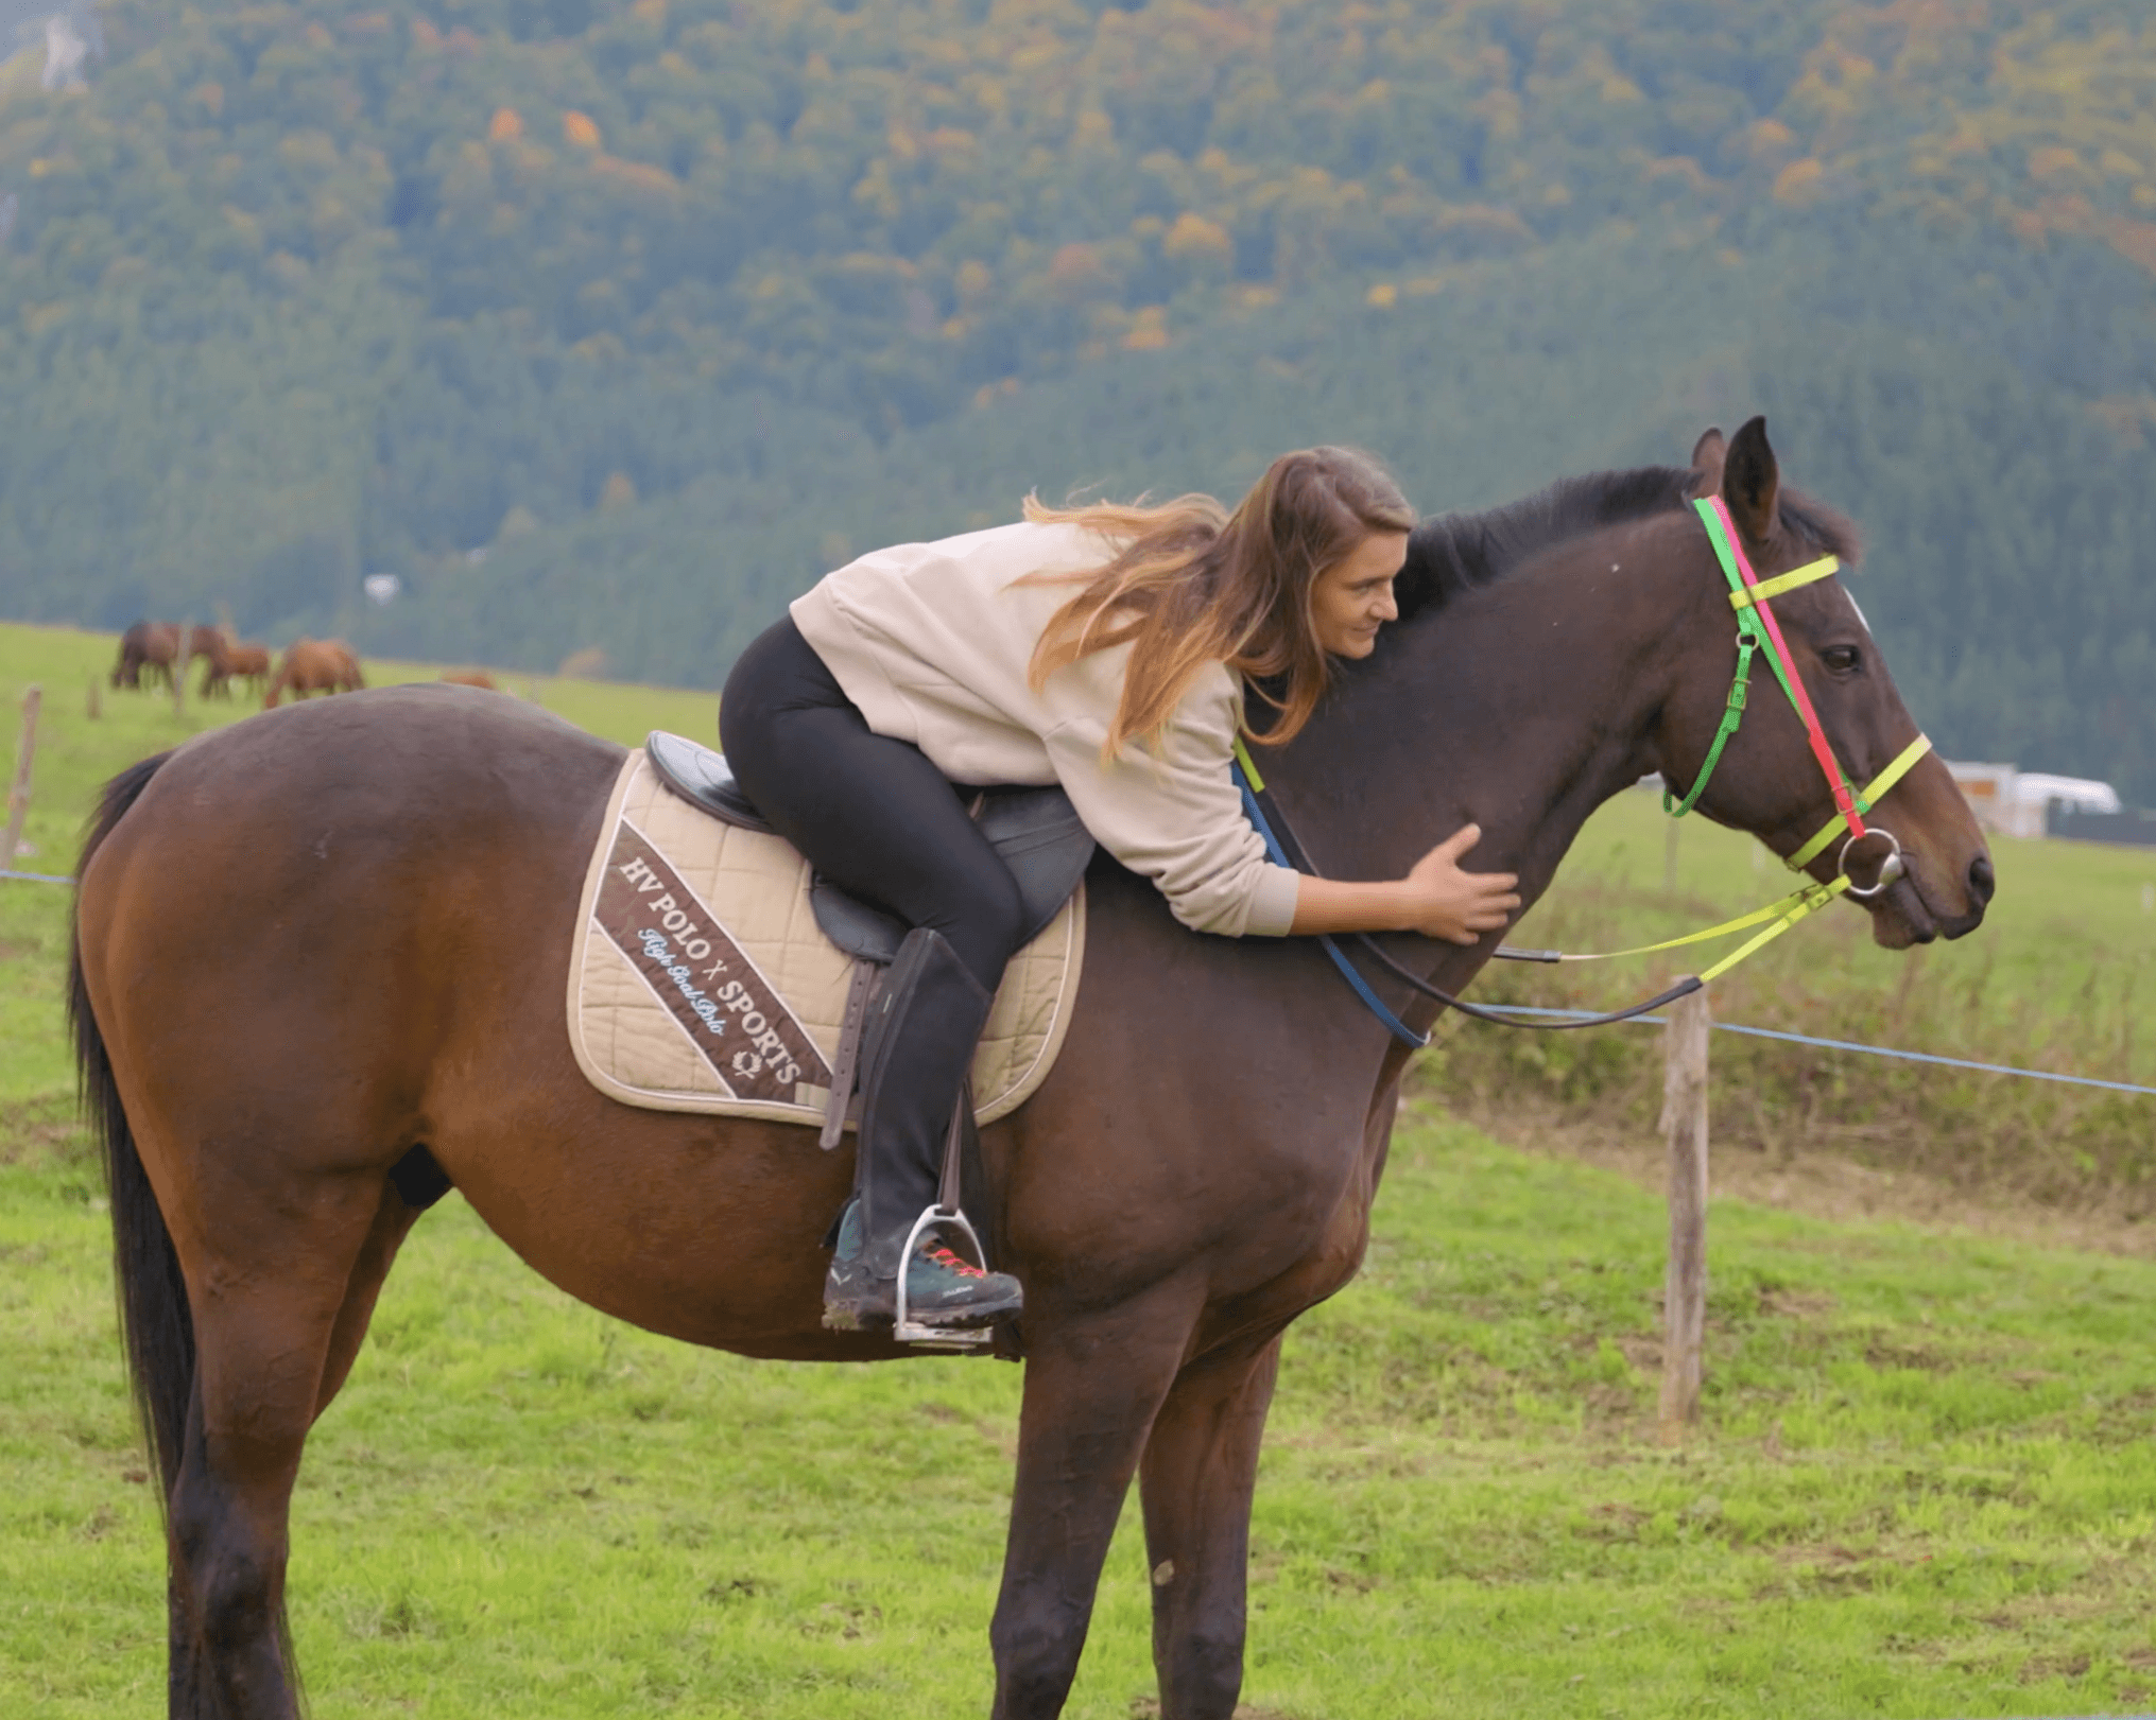
[[[1583, 1119], [1533, 1093], [1507, 1095], [1503, 1108], [1475, 1101], [1447, 1108], [1507, 1147], [1580, 1160], [1615, 1170], [1641, 1188], [1662, 1188], [1664, 1149], [1647, 1129]], [[1923, 1170], [1878, 1170], [1835, 1153], [1768, 1157], [1742, 1147], [1714, 1153], [1712, 1177], [1716, 1196], [1800, 1211], [1809, 1218], [1835, 1222], [1887, 1218], [2057, 1248], [2156, 1257], [2156, 1222], [2124, 1205], [2040, 1205], [2027, 1196], [1971, 1190]]]

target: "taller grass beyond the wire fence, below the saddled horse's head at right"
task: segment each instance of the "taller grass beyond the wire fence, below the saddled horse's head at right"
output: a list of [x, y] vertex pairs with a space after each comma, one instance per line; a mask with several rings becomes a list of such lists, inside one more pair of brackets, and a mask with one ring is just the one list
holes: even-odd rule
[[[1889, 802], [1891, 806], [1891, 802]], [[1686, 819], [1677, 888], [1664, 888], [1669, 823], [1649, 793], [1604, 806], [1516, 942], [1611, 951], [1757, 907], [1789, 875], [1749, 836]], [[2156, 1086], [2156, 851], [2001, 838], [1999, 897], [1953, 944], [1882, 951], [1867, 916], [1835, 903], [1714, 983], [1720, 1022], [1783, 1028]], [[1710, 953], [1591, 966], [1496, 963], [1475, 994], [1615, 1009], [1654, 996]], [[2156, 1097], [1714, 1037], [1718, 1151], [1777, 1160], [1837, 1153], [1917, 1168], [2048, 1205], [2156, 1211]], [[1554, 1114], [1651, 1132], [1660, 1043], [1651, 1028], [1507, 1032], [1453, 1017], [1421, 1078], [1501, 1134]]]

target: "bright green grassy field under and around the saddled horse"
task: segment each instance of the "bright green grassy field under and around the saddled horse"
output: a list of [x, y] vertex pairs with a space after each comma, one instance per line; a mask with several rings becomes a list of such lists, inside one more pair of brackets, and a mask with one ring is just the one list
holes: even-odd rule
[[[0, 711], [28, 679], [47, 688], [39, 854], [19, 864], [65, 871], [97, 780], [224, 720], [108, 692], [91, 722], [106, 662], [106, 640], [0, 627]], [[533, 692], [625, 741], [709, 724], [707, 694]], [[1742, 841], [1688, 826], [1667, 899], [1649, 815], [1645, 797], [1608, 808], [1522, 942], [1628, 942], [1781, 888]], [[1999, 912], [1962, 946], [1893, 961], [1837, 914], [1785, 940], [1807, 946], [1794, 1002], [1761, 983], [1718, 1011], [1848, 1028], [1899, 987], [1878, 1032], [1958, 1019], [1988, 1045], [2018, 1011], [2070, 1022], [2147, 961], [2150, 875], [2145, 856], [2005, 849]], [[155, 1511], [58, 1032], [65, 899], [0, 884], [0, 1714], [56, 1720], [162, 1705]], [[1557, 998], [1559, 979], [1505, 983]], [[1742, 1121], [1720, 1104], [1733, 1043], [1716, 1043], [1718, 1138], [1725, 1110]], [[2055, 1030], [2031, 1056], [2074, 1043]], [[1453, 1035], [1425, 1086], [1503, 1076], [1623, 1112], [1628, 1060], [1649, 1054], [1649, 1035]], [[1837, 1080], [1777, 1104], [1882, 1104]], [[2117, 1127], [2145, 1140], [2150, 1116]], [[1289, 1338], [1255, 1524], [1253, 1716], [2152, 1703], [2156, 1261], [1720, 1201], [1705, 1423], [1675, 1453], [1651, 1442], [1660, 1261], [1651, 1194], [1419, 1101], [1367, 1272]], [[979, 1714], [1015, 1405], [1018, 1371], [994, 1362], [813, 1369], [649, 1338], [545, 1287], [453, 1196], [390, 1276], [302, 1472], [291, 1593], [315, 1711]], [[1151, 1694], [1134, 1515], [1072, 1703], [1091, 1720]]]

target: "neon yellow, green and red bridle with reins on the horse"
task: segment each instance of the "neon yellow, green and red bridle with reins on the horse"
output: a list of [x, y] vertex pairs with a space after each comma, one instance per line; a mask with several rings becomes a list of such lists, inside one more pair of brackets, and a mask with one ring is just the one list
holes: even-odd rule
[[[1826, 776], [1826, 787], [1835, 797], [1835, 815], [1820, 828], [1820, 832], [1796, 849], [1783, 864], [1789, 871], [1802, 871], [1813, 860], [1818, 860], [1828, 843], [1837, 834], [1848, 832], [1848, 841], [1841, 845], [1841, 854], [1835, 856], [1835, 875], [1826, 882], [1807, 882], [1792, 890], [1781, 901], [1770, 901], [1766, 907], [1755, 907], [1751, 914], [1740, 914], [1733, 920], [1723, 920], [1705, 931], [1688, 931], [1682, 938], [1664, 938], [1660, 944], [1636, 944], [1628, 951], [1600, 951], [1595, 955], [1567, 955], [1565, 951], [1524, 951], [1511, 944], [1501, 944], [1496, 955], [1503, 961], [1617, 961], [1628, 955], [1654, 955], [1658, 951], [1675, 951], [1686, 944], [1703, 944], [1714, 938], [1727, 938], [1736, 931], [1746, 931], [1749, 927], [1764, 927], [1753, 938], [1749, 938], [1740, 948], [1725, 955], [1705, 972], [1695, 979], [1686, 979], [1662, 991], [1660, 996], [1647, 998], [1647, 1002], [1634, 1004], [1632, 1009], [1611, 1011], [1608, 1015], [1589, 1015], [1572, 1022], [1522, 1022], [1503, 1015], [1492, 1009], [1462, 1002], [1449, 991], [1440, 991], [1429, 981], [1399, 966], [1391, 955], [1386, 955], [1369, 935], [1354, 933], [1356, 942], [1371, 955], [1380, 966], [1384, 966], [1395, 979], [1421, 991], [1425, 998], [1436, 998], [1438, 1002], [1457, 1009], [1464, 1015], [1473, 1015], [1479, 1022], [1492, 1022], [1507, 1028], [1537, 1028], [1537, 1030], [1563, 1030], [1563, 1028], [1589, 1028], [1602, 1026], [1606, 1022], [1623, 1022], [1632, 1015], [1643, 1015], [1651, 1009], [1660, 1009], [1673, 998], [1682, 998], [1697, 991], [1712, 979], [1727, 974], [1746, 957], [1772, 944], [1781, 933], [1811, 914], [1820, 912], [1835, 897], [1850, 894], [1858, 899], [1869, 899], [1880, 894], [1904, 873], [1902, 843], [1891, 830], [1865, 823], [1865, 813], [1878, 806], [1880, 797], [1904, 776], [1910, 767], [1932, 750], [1932, 741], [1925, 735], [1917, 735], [1908, 746], [1895, 754], [1893, 763], [1887, 765], [1878, 776], [1865, 782], [1863, 789], [1850, 785], [1848, 772], [1835, 759], [1835, 748], [1826, 739], [1826, 729], [1820, 726], [1820, 713], [1813, 709], [1811, 694], [1805, 692], [1805, 679], [1796, 672], [1796, 657], [1789, 653], [1789, 642], [1781, 636], [1781, 623], [1774, 621], [1774, 610], [1768, 604], [1783, 593], [1798, 591], [1818, 580], [1833, 575], [1841, 563], [1835, 556], [1820, 556], [1818, 560], [1794, 567], [1787, 573], [1777, 573], [1772, 580], [1761, 580], [1753, 573], [1751, 558], [1744, 554], [1744, 543], [1738, 537], [1736, 522], [1729, 517], [1729, 507], [1720, 496], [1708, 496], [1705, 500], [1692, 502], [1699, 513], [1701, 524], [1708, 528], [1708, 541], [1714, 545], [1714, 558], [1720, 563], [1723, 578], [1729, 580], [1729, 606], [1738, 614], [1738, 670], [1729, 681], [1729, 698], [1723, 703], [1723, 720], [1714, 731], [1714, 741], [1708, 746], [1708, 757], [1699, 765], [1699, 776], [1686, 791], [1684, 800], [1675, 800], [1669, 789], [1662, 791], [1662, 810], [1671, 817], [1682, 819], [1699, 804], [1699, 795], [1705, 793], [1708, 780], [1714, 776], [1714, 767], [1723, 759], [1723, 748], [1729, 746], [1729, 737], [1736, 735], [1738, 726], [1744, 722], [1744, 709], [1751, 698], [1751, 668], [1753, 657], [1766, 653], [1768, 668], [1774, 670], [1774, 679], [1781, 681], [1783, 694], [1789, 698], [1789, 707], [1796, 711], [1798, 720], [1805, 724], [1805, 737], [1811, 744], [1811, 757], [1820, 761], [1820, 769]], [[1281, 862], [1291, 864], [1298, 871], [1315, 869], [1296, 841], [1294, 832], [1287, 828], [1287, 819], [1281, 815], [1279, 806], [1266, 789], [1266, 780], [1257, 774], [1257, 765], [1250, 761], [1248, 748], [1242, 739], [1235, 739], [1235, 780], [1242, 789], [1244, 806], [1250, 815], [1250, 823], [1257, 828], [1259, 836], [1266, 838], [1268, 854]], [[1880, 860], [1878, 879], [1858, 886], [1850, 877], [1850, 851], [1878, 836], [1887, 843], [1887, 856]], [[1378, 1015], [1380, 1022], [1408, 1045], [1427, 1045], [1429, 1035], [1416, 1032], [1406, 1022], [1401, 1022], [1380, 998], [1371, 991], [1369, 981], [1356, 970], [1348, 959], [1335, 938], [1317, 940], [1332, 966], [1341, 970], [1348, 983], [1354, 987], [1356, 996]]]

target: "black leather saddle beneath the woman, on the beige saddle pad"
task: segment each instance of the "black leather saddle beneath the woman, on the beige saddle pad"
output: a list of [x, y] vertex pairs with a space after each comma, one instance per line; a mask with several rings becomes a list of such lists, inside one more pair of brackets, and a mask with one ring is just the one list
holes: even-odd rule
[[[742, 793], [742, 785], [733, 780], [724, 752], [701, 746], [686, 735], [653, 729], [645, 737], [645, 757], [651, 759], [651, 769], [668, 789], [720, 823], [776, 834], [755, 802]], [[1063, 789], [983, 789], [975, 821], [1003, 856], [1003, 864], [1011, 869], [1011, 877], [1018, 879], [1018, 899], [1026, 907], [1026, 938], [1031, 940], [1056, 916], [1072, 890], [1078, 888], [1078, 879], [1084, 877], [1084, 869], [1093, 860], [1093, 834]], [[871, 907], [860, 897], [849, 897], [821, 873], [808, 890], [808, 901], [824, 935], [862, 961], [888, 966], [908, 933], [903, 920]]]

